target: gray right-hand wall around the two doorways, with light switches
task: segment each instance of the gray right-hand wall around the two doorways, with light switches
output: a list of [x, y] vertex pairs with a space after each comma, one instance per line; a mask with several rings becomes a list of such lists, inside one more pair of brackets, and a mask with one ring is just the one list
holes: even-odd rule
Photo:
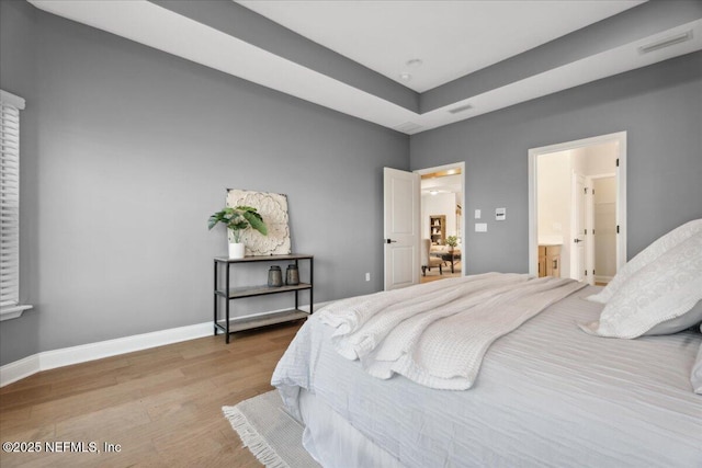
[[[465, 161], [468, 273], [528, 272], [529, 149], [626, 130], [632, 258], [702, 218], [701, 123], [702, 53], [695, 53], [415, 135], [410, 167]], [[507, 207], [506, 221], [494, 220], [496, 207]], [[476, 208], [487, 233], [474, 231]]]

